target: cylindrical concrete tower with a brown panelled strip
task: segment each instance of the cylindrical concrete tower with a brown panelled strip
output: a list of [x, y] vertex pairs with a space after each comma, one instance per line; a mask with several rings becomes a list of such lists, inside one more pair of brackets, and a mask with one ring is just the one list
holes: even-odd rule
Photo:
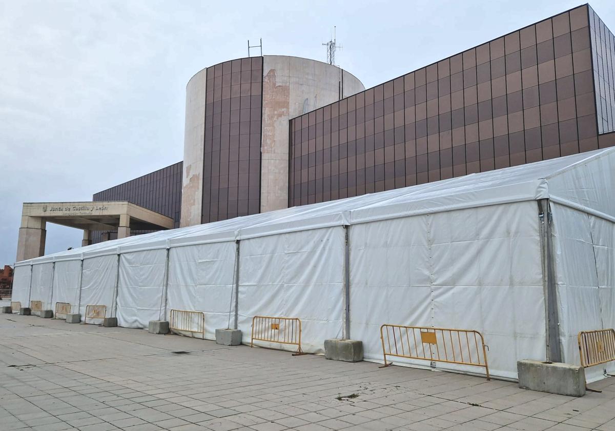
[[363, 89], [341, 68], [284, 55], [230, 60], [192, 76], [181, 226], [287, 207], [289, 119]]

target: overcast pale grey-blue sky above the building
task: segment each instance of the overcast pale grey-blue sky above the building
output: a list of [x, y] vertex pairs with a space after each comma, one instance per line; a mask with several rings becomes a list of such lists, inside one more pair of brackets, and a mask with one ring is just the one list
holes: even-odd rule
[[[92, 194], [183, 158], [185, 89], [247, 55], [336, 62], [365, 87], [578, 6], [560, 1], [0, 0], [0, 265], [13, 264], [23, 202]], [[612, 0], [593, 9], [615, 30]], [[82, 231], [47, 225], [46, 252]]]

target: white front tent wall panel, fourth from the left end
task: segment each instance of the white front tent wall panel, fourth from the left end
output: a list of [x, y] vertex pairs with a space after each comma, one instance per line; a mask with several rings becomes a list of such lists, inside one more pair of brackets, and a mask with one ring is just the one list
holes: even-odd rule
[[[106, 305], [106, 316], [113, 317], [117, 281], [117, 255], [89, 257], [83, 260], [81, 280], [81, 320], [87, 305]], [[88, 323], [101, 323], [89, 320]]]

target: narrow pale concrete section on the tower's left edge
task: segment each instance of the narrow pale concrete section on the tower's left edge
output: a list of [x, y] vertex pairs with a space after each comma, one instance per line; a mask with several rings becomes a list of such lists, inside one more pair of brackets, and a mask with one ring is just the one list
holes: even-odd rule
[[186, 86], [186, 126], [181, 190], [180, 227], [199, 225], [203, 200], [203, 145], [207, 69], [192, 76]]

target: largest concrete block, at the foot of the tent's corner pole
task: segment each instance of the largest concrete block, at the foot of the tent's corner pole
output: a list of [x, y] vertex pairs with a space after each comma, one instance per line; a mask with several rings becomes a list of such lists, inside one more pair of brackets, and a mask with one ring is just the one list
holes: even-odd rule
[[519, 387], [570, 397], [585, 395], [585, 369], [579, 365], [534, 360], [517, 361]]

